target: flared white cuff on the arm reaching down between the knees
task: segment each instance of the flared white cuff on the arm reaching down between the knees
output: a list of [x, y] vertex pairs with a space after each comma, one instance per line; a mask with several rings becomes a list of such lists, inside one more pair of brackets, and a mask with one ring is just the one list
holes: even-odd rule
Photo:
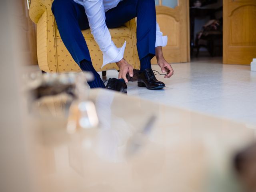
[[125, 46], [126, 46], [126, 41], [124, 42], [124, 45], [121, 48], [117, 48], [113, 43], [113, 46], [111, 46], [106, 52], [102, 52], [103, 64], [101, 68], [104, 67], [106, 64], [116, 63], [122, 60], [122, 58], [124, 58]]

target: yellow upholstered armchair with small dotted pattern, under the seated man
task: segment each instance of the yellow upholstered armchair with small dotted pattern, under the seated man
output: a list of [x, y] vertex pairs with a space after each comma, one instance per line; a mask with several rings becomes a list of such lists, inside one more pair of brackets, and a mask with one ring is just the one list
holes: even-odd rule
[[[58, 26], [52, 14], [53, 0], [32, 0], [29, 15], [37, 26], [37, 56], [38, 64], [44, 72], [80, 72], [78, 64], [73, 60], [64, 46]], [[96, 71], [110, 69], [118, 70], [116, 64], [102, 66], [102, 52], [96, 44], [90, 29], [82, 31], [88, 45], [92, 64]], [[135, 68], [140, 68], [138, 52], [136, 47], [136, 22], [135, 19], [125, 23], [124, 26], [110, 29], [113, 42], [121, 47], [126, 41], [124, 58]]]

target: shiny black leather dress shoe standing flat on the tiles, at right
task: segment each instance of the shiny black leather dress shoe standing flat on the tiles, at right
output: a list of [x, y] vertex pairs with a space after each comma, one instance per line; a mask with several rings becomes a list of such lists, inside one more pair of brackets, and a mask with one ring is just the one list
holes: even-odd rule
[[147, 89], [162, 89], [165, 84], [158, 81], [152, 69], [145, 69], [138, 75], [138, 87], [146, 87]]

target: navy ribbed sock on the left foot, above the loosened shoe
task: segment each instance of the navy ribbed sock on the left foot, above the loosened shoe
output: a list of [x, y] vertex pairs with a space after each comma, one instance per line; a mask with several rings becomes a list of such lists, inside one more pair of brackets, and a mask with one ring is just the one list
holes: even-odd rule
[[92, 66], [92, 62], [87, 60], [82, 60], [80, 61], [80, 68], [83, 71], [92, 72], [92, 74], [94, 75], [94, 80], [91, 82], [88, 82], [90, 88], [99, 88], [99, 87], [106, 88], [106, 86], [104, 85], [104, 82], [100, 78], [100, 75], [98, 74], [98, 72], [96, 72], [96, 70]]

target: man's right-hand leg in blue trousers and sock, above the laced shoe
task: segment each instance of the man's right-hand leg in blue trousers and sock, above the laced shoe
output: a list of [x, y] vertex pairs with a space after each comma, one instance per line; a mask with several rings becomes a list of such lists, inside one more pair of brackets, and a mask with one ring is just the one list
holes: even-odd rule
[[155, 56], [156, 7], [154, 0], [123, 0], [106, 12], [108, 28], [118, 27], [137, 17], [137, 49], [140, 69], [151, 68]]

